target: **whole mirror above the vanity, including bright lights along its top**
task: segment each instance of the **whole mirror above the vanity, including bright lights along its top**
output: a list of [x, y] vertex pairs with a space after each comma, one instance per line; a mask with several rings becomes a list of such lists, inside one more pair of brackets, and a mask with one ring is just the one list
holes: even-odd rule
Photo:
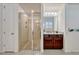
[[57, 32], [58, 19], [56, 12], [45, 12], [43, 15], [43, 31], [44, 32]]

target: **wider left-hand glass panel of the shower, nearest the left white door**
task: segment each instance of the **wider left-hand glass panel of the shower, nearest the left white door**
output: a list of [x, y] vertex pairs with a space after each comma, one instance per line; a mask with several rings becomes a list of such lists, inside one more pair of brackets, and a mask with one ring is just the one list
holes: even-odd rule
[[31, 19], [25, 13], [20, 13], [19, 17], [19, 50], [32, 50]]

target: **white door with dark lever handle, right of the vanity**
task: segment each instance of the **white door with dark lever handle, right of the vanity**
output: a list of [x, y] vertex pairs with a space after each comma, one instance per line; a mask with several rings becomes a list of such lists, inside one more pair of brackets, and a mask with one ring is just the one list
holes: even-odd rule
[[[65, 51], [79, 52], [79, 4], [66, 4]], [[69, 29], [74, 31], [70, 32]]]

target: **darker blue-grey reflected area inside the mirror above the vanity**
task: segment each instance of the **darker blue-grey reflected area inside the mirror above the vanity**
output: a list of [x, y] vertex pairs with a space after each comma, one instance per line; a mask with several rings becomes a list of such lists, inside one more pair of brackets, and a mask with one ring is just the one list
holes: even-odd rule
[[44, 17], [43, 28], [46, 32], [54, 31], [54, 17]]

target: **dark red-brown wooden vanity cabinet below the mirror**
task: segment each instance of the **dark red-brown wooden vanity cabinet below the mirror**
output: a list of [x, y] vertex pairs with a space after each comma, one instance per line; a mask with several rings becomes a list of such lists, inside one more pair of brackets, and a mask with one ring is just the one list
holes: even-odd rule
[[44, 34], [44, 49], [62, 49], [63, 34]]

